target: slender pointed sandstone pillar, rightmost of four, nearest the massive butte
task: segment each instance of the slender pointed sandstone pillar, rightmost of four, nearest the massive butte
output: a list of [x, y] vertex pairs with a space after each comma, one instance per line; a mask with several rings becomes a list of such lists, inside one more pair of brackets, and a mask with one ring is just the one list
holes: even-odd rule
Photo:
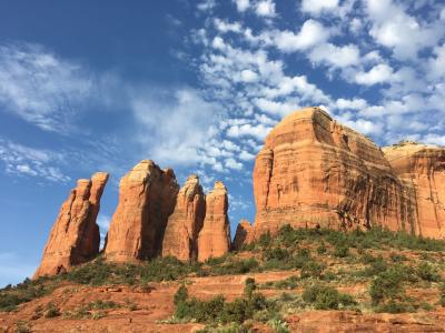
[[214, 190], [206, 196], [206, 219], [198, 236], [198, 261], [228, 253], [230, 228], [227, 210], [227, 189], [221, 182], [215, 182]]

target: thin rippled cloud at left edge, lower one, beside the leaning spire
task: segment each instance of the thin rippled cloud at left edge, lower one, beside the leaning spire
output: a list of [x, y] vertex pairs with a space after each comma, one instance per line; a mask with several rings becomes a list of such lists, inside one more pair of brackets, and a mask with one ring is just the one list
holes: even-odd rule
[[0, 138], [0, 161], [7, 173], [67, 182], [69, 176], [56, 167], [65, 160], [60, 153], [34, 149]]

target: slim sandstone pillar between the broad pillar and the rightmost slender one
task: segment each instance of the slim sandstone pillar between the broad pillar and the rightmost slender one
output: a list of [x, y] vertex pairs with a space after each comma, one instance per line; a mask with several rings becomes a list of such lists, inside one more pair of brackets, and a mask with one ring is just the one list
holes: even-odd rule
[[197, 175], [190, 175], [180, 189], [174, 213], [168, 218], [162, 256], [187, 261], [197, 259], [198, 233], [206, 215], [206, 201]]

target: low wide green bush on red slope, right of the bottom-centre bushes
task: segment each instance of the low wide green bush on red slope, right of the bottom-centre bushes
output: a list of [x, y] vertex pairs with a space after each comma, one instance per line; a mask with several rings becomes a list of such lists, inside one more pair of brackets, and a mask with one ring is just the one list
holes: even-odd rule
[[338, 310], [339, 307], [357, 304], [353, 296], [320, 284], [306, 287], [303, 292], [303, 301], [314, 304], [316, 310]]

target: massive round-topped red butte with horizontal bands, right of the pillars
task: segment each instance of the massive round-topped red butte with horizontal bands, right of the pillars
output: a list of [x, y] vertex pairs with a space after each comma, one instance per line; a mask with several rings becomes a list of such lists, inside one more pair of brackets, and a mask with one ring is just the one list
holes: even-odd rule
[[294, 112], [276, 125], [253, 178], [255, 236], [284, 224], [418, 230], [415, 193], [382, 150], [318, 108]]

